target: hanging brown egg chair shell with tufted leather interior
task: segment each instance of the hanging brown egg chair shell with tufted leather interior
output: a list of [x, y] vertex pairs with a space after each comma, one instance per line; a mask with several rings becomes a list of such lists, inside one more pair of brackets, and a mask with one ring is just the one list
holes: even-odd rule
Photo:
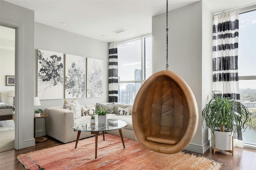
[[193, 139], [198, 125], [192, 90], [172, 71], [152, 74], [136, 95], [132, 124], [144, 147], [165, 154], [182, 151]]

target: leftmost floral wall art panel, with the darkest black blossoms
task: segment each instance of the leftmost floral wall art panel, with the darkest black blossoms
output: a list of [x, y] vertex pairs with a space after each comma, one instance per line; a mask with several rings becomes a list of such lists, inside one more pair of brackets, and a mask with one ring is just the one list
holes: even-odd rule
[[63, 98], [63, 53], [38, 49], [37, 80], [40, 100]]

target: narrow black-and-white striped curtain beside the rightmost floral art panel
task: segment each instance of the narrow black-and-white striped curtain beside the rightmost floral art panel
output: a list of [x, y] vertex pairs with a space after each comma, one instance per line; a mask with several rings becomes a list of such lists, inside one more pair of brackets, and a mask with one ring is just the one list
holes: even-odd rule
[[116, 43], [109, 43], [108, 102], [118, 102], [118, 59]]

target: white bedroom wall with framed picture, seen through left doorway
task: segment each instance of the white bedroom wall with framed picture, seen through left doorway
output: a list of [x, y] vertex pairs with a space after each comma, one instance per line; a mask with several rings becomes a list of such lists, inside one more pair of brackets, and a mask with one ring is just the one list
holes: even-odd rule
[[[15, 32], [13, 32], [15, 34]], [[14, 43], [14, 42], [11, 42]], [[2, 42], [1, 42], [2, 45]], [[15, 74], [15, 51], [10, 49], [0, 50], [0, 92], [1, 99], [4, 103], [13, 105], [13, 97], [8, 96], [14, 86], [6, 86], [6, 75], [14, 76]]]

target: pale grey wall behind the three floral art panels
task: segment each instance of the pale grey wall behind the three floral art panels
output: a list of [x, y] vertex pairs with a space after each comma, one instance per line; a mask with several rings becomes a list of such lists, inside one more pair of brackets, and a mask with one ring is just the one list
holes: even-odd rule
[[[83, 105], [108, 102], [108, 43], [37, 22], [34, 23], [34, 29], [34, 96], [37, 96], [37, 51], [44, 49], [103, 60], [103, 97], [78, 98], [78, 101]], [[40, 100], [40, 103], [41, 106], [36, 108], [45, 111], [47, 107], [63, 106], [64, 99]], [[45, 119], [36, 119], [36, 137], [42, 135], [45, 135]]]

